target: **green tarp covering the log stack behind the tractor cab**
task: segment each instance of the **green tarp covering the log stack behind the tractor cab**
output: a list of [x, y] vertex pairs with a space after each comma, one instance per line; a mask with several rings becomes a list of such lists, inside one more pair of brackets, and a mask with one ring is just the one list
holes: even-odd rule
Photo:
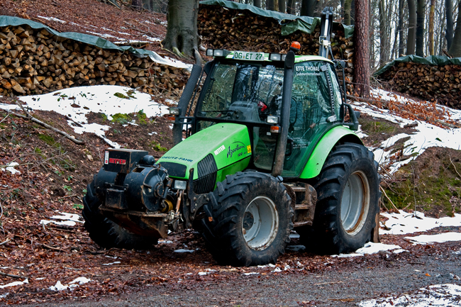
[[[217, 5], [223, 6], [227, 9], [248, 10], [259, 16], [274, 18], [282, 26], [282, 35], [289, 35], [296, 30], [311, 34], [313, 33], [313, 30], [316, 28], [317, 24], [320, 25], [321, 23], [321, 20], [318, 17], [314, 18], [309, 16], [296, 16], [286, 13], [279, 13], [276, 11], [260, 9], [250, 4], [239, 4], [237, 2], [227, 0], [206, 0], [201, 1], [200, 5]], [[338, 25], [338, 23], [335, 24]], [[343, 25], [343, 27], [345, 38], [350, 38], [354, 32], [354, 27], [345, 25]]]

